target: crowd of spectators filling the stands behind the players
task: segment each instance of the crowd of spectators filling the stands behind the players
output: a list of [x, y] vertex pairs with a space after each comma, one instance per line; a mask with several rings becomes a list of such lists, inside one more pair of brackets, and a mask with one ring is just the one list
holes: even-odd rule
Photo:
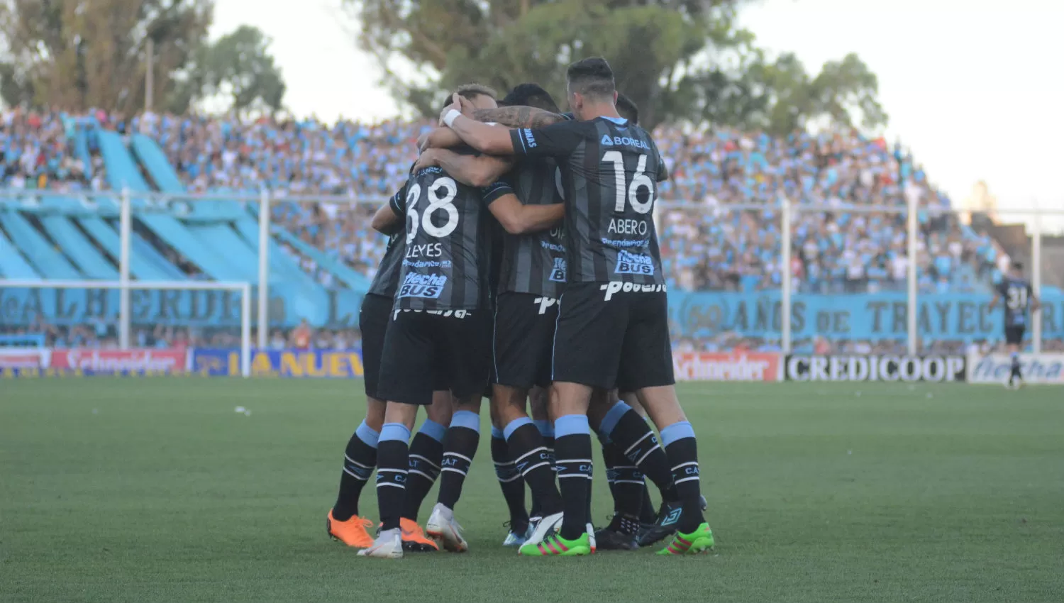
[[[266, 188], [276, 199], [302, 198], [275, 203], [275, 224], [371, 277], [385, 238], [370, 230], [368, 218], [405, 180], [416, 157], [414, 143], [429, 127], [428, 121], [328, 124], [286, 116], [127, 117], [102, 111], [70, 116], [15, 108], [0, 119], [0, 188], [105, 189], [94, 130], [139, 133], [159, 143], [190, 192], [255, 195]], [[85, 136], [76, 136], [80, 129]], [[662, 125], [653, 135], [671, 174], [660, 186], [659, 198], [667, 203], [660, 204], [655, 220], [672, 290], [779, 288], [784, 197], [794, 207], [785, 269], [801, 292], [903, 288], [911, 258], [905, 216], [897, 210], [910, 197], [920, 207], [916, 262], [922, 292], [986, 292], [1008, 262], [985, 232], [948, 212], [949, 199], [900, 145], [852, 131], [770, 136]], [[340, 286], [298, 246], [281, 242], [318, 282]], [[195, 270], [173, 250], [161, 251]], [[94, 340], [89, 335], [64, 337]], [[152, 345], [156, 338], [172, 342], [177, 335], [149, 330], [138, 331], [137, 338]], [[336, 338], [346, 342], [354, 335]], [[736, 345], [726, 335], [718, 339]]]

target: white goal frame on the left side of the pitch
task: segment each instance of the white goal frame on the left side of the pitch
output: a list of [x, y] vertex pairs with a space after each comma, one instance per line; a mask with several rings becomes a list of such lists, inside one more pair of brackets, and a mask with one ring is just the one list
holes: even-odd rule
[[150, 290], [222, 290], [240, 294], [240, 375], [251, 376], [251, 283], [227, 281], [66, 281], [48, 279], [0, 279], [0, 288], [23, 289], [118, 289], [118, 331], [122, 341], [129, 341], [130, 291]]

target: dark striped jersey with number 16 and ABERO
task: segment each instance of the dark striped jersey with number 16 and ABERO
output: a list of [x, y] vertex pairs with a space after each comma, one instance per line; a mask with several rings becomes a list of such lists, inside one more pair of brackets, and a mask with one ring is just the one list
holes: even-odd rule
[[510, 136], [516, 155], [558, 161], [569, 283], [665, 283], [653, 208], [667, 171], [646, 131], [598, 117], [511, 130]]

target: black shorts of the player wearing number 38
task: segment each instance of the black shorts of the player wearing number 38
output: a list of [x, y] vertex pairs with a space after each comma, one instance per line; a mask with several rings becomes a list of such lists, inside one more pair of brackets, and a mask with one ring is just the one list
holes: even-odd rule
[[433, 390], [449, 389], [456, 398], [483, 393], [492, 364], [489, 317], [483, 309], [393, 312], [381, 357], [380, 399], [427, 406]]

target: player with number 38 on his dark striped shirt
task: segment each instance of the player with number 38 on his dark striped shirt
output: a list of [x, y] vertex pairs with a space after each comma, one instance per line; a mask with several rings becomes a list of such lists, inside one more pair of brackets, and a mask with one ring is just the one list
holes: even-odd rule
[[[487, 90], [467, 90], [467, 96], [481, 106], [495, 106]], [[403, 195], [394, 197], [375, 217], [375, 225], [385, 229], [404, 221], [405, 247], [378, 384], [378, 397], [387, 400], [378, 440], [381, 533], [360, 555], [402, 556], [400, 519], [411, 473], [410, 430], [417, 407], [432, 403], [433, 369], [440, 363], [456, 399], [440, 463], [440, 501], [450, 504], [446, 514], [437, 504], [426, 527], [448, 550], [465, 549], [449, 515], [477, 450], [480, 417], [475, 409], [489, 368], [488, 292], [482, 286], [488, 250], [482, 204], [508, 190], [504, 184], [481, 190], [458, 183], [438, 167], [415, 169]]]

